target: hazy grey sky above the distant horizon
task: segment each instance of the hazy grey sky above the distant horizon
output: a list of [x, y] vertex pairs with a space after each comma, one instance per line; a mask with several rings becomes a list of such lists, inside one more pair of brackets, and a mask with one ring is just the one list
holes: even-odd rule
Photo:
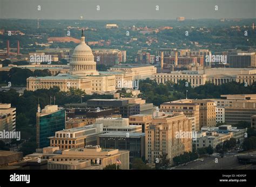
[[27, 19], [256, 18], [255, 9], [256, 0], [0, 0], [0, 18]]

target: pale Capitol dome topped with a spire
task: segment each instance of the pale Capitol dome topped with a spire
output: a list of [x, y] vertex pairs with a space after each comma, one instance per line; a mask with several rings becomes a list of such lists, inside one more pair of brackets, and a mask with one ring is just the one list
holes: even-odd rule
[[99, 75], [96, 70], [96, 62], [94, 61], [92, 49], [85, 43], [83, 30], [81, 42], [75, 47], [71, 57], [70, 73], [80, 76]]

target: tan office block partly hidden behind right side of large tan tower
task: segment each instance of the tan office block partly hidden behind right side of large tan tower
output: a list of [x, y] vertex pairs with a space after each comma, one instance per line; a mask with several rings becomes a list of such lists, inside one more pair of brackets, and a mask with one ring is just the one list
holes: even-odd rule
[[199, 104], [191, 103], [190, 100], [181, 99], [166, 102], [160, 105], [161, 112], [184, 112], [186, 117], [192, 120], [192, 131], [199, 131]]

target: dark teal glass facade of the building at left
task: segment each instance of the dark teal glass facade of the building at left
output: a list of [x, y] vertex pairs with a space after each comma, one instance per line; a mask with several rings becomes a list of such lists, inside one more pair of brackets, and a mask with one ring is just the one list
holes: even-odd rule
[[50, 146], [48, 137], [54, 136], [56, 131], [65, 129], [65, 109], [39, 118], [38, 148]]

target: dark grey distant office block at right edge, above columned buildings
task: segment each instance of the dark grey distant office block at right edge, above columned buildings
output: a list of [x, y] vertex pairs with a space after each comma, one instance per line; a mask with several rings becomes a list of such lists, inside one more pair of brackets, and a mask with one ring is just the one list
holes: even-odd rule
[[231, 50], [227, 52], [227, 63], [230, 64], [230, 68], [256, 67], [256, 54], [255, 52]]

